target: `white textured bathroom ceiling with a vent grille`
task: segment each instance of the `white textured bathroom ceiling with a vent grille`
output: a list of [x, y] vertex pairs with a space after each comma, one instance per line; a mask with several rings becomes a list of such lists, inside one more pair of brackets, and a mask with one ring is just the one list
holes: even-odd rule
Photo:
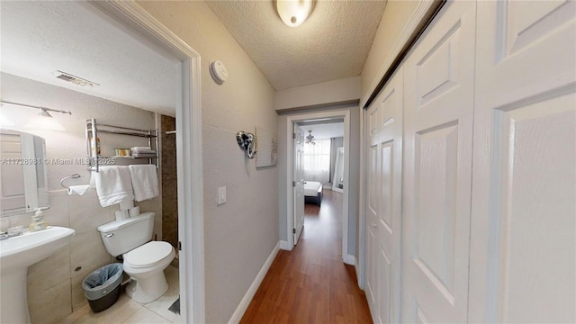
[[[3, 72], [175, 115], [176, 62], [91, 4], [2, 1], [0, 5]], [[56, 70], [100, 85], [67, 83], [52, 74]]]

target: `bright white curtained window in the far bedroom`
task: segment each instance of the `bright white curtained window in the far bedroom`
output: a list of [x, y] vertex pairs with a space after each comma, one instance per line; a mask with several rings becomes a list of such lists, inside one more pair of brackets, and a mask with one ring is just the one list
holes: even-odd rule
[[316, 145], [304, 144], [304, 179], [321, 184], [330, 181], [330, 139], [316, 139]]

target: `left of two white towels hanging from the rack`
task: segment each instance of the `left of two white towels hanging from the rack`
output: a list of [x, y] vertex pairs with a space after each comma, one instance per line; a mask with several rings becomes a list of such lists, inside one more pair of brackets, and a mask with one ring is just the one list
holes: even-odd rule
[[134, 199], [128, 166], [100, 166], [93, 175], [102, 207]]

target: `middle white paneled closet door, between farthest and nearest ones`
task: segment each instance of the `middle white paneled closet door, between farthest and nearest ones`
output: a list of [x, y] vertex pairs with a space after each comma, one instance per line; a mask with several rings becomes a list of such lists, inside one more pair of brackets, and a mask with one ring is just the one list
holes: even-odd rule
[[403, 322], [467, 320], [475, 7], [445, 4], [404, 64]]

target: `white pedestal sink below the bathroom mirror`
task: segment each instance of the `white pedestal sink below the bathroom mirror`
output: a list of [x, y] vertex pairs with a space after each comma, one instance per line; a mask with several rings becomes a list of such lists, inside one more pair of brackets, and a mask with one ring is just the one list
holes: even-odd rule
[[28, 266], [65, 246], [75, 232], [74, 229], [49, 226], [0, 240], [0, 323], [30, 323], [26, 298]]

